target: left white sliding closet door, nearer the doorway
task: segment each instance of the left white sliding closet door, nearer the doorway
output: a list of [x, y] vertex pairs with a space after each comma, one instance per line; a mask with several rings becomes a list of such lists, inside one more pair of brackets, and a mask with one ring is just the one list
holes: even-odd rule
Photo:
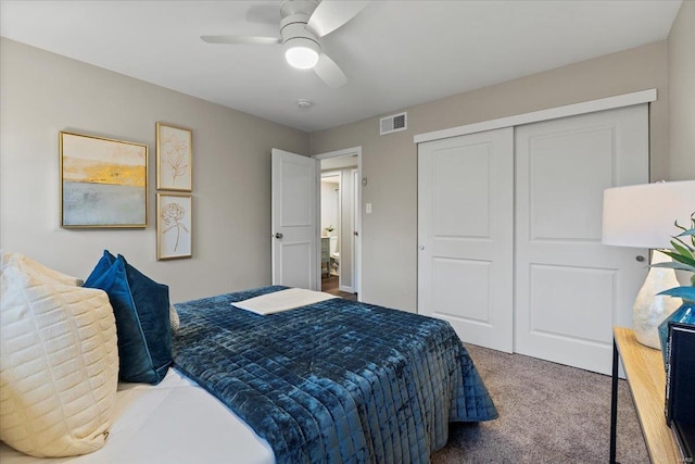
[[418, 312], [513, 349], [513, 128], [418, 146]]

